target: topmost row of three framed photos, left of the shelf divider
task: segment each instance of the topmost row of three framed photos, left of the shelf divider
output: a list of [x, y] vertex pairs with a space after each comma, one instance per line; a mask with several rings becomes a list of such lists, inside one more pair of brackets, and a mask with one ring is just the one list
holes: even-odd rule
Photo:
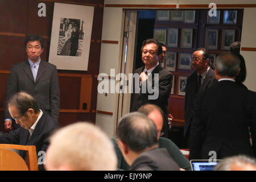
[[156, 20], [195, 23], [195, 15], [195, 10], [159, 10], [156, 11]]

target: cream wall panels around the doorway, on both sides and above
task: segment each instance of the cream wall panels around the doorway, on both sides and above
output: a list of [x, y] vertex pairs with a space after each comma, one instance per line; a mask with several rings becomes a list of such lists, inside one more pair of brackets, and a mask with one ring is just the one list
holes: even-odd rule
[[[118, 5], [205, 5], [209, 3], [218, 4], [256, 4], [256, 1], [252, 0], [105, 0], [106, 4], [118, 4]], [[103, 27], [102, 27], [102, 40], [115, 40], [118, 44], [101, 44], [101, 59], [100, 59], [100, 73], [110, 73], [110, 68], [115, 68], [116, 72], [119, 69], [119, 55], [121, 54], [122, 44], [122, 7], [104, 7], [103, 15]], [[253, 47], [256, 48], [256, 8], [244, 8], [243, 14], [243, 27], [241, 47]], [[241, 54], [245, 57], [247, 78], [245, 85], [247, 88], [256, 92], [256, 52], [241, 51]], [[98, 94], [97, 98], [97, 110], [104, 110], [113, 112], [113, 116], [110, 117], [104, 114], [96, 114], [96, 125], [100, 126], [109, 137], [113, 137], [115, 115], [117, 108], [117, 97], [108, 95], [107, 97]]]

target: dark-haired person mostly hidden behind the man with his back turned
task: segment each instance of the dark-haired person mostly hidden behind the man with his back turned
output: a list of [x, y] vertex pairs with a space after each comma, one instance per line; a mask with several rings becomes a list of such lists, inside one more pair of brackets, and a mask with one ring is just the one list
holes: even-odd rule
[[243, 56], [240, 54], [240, 46], [240, 42], [234, 42], [230, 44], [229, 49], [230, 52], [234, 53], [240, 59], [240, 72], [236, 76], [236, 82], [238, 84], [241, 84], [243, 87], [247, 88], [245, 85], [242, 84], [242, 82], [245, 81], [246, 78], [246, 66], [245, 59], [243, 59]]

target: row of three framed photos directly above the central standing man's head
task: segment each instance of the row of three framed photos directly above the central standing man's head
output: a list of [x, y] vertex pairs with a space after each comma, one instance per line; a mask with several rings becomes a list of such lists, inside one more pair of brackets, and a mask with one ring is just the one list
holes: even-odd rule
[[[166, 39], [167, 34], [167, 39]], [[178, 47], [179, 28], [155, 29], [154, 39], [167, 47]], [[192, 48], [193, 28], [181, 28], [181, 48]]]

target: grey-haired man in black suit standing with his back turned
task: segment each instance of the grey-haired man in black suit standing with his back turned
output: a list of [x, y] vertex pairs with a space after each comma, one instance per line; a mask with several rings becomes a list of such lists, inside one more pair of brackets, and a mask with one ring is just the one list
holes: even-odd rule
[[196, 96], [190, 158], [222, 159], [238, 154], [255, 157], [256, 93], [236, 84], [240, 71], [236, 55], [222, 53], [214, 65], [217, 84]]

